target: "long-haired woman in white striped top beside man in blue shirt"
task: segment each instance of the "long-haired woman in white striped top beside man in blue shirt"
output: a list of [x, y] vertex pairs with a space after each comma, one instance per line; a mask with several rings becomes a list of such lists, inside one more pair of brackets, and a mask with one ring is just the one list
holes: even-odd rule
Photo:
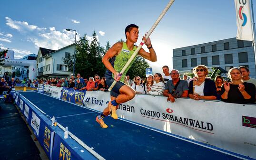
[[154, 75], [155, 83], [151, 86], [151, 88], [148, 88], [148, 93], [150, 95], [163, 95], [165, 84], [163, 76], [160, 73], [156, 73]]

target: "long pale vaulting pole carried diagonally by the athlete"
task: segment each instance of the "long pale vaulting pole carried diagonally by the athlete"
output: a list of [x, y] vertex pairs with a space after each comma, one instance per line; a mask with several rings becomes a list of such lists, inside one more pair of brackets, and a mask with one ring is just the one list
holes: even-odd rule
[[[160, 16], [158, 17], [158, 19], [156, 20], [156, 22], [153, 24], [153, 26], [149, 29], [146, 39], [148, 39], [148, 37], [151, 35], [151, 33], [153, 32], [153, 30], [157, 27], [158, 23], [160, 22], [160, 20], [164, 17], [164, 15], [166, 14], [167, 10], [171, 7], [172, 3], [174, 2], [174, 0], [170, 0], [169, 3], [167, 4], [167, 6], [165, 7], [165, 9], [162, 11], [162, 13], [160, 14]], [[118, 76], [121, 76], [125, 70], [127, 69], [127, 67], [130, 65], [130, 63], [132, 62], [132, 60], [137, 56], [138, 51], [140, 50], [140, 48], [144, 45], [145, 41], [142, 40], [142, 42], [140, 42], [139, 46], [137, 47], [137, 49], [135, 50], [135, 52], [132, 54], [132, 56], [130, 57], [130, 59], [128, 60], [128, 62], [126, 63], [126, 65], [123, 67], [123, 69], [121, 70], [121, 72], [119, 73]], [[117, 81], [114, 81], [112, 83], [112, 85], [108, 88], [108, 91], [111, 91], [112, 88], [116, 85]]]

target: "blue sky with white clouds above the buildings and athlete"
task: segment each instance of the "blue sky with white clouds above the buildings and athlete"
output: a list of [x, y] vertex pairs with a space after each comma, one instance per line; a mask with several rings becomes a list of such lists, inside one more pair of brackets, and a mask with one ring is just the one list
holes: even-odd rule
[[[39, 47], [59, 49], [95, 30], [100, 45], [125, 39], [124, 28], [140, 28], [140, 37], [156, 21], [169, 0], [4, 0], [1, 2], [0, 47], [15, 57], [38, 53]], [[3, 7], [4, 6], [4, 7]], [[254, 4], [255, 9], [255, 4]], [[234, 0], [176, 0], [151, 34], [158, 62], [172, 68], [172, 49], [236, 37]], [[139, 44], [138, 40], [137, 44]]]

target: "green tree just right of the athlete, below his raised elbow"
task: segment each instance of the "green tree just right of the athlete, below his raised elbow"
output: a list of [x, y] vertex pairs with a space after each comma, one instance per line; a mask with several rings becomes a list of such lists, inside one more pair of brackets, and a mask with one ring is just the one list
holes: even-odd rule
[[142, 56], [137, 56], [126, 75], [129, 75], [130, 79], [137, 75], [142, 78], [146, 77], [146, 68], [150, 68], [148, 62]]

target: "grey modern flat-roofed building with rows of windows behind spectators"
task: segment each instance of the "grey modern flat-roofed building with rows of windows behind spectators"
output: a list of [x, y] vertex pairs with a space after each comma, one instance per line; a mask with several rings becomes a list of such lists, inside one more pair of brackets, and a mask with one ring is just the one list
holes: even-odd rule
[[197, 65], [232, 67], [246, 66], [256, 78], [254, 48], [251, 41], [229, 38], [214, 42], [173, 49], [173, 69], [185, 72]]

